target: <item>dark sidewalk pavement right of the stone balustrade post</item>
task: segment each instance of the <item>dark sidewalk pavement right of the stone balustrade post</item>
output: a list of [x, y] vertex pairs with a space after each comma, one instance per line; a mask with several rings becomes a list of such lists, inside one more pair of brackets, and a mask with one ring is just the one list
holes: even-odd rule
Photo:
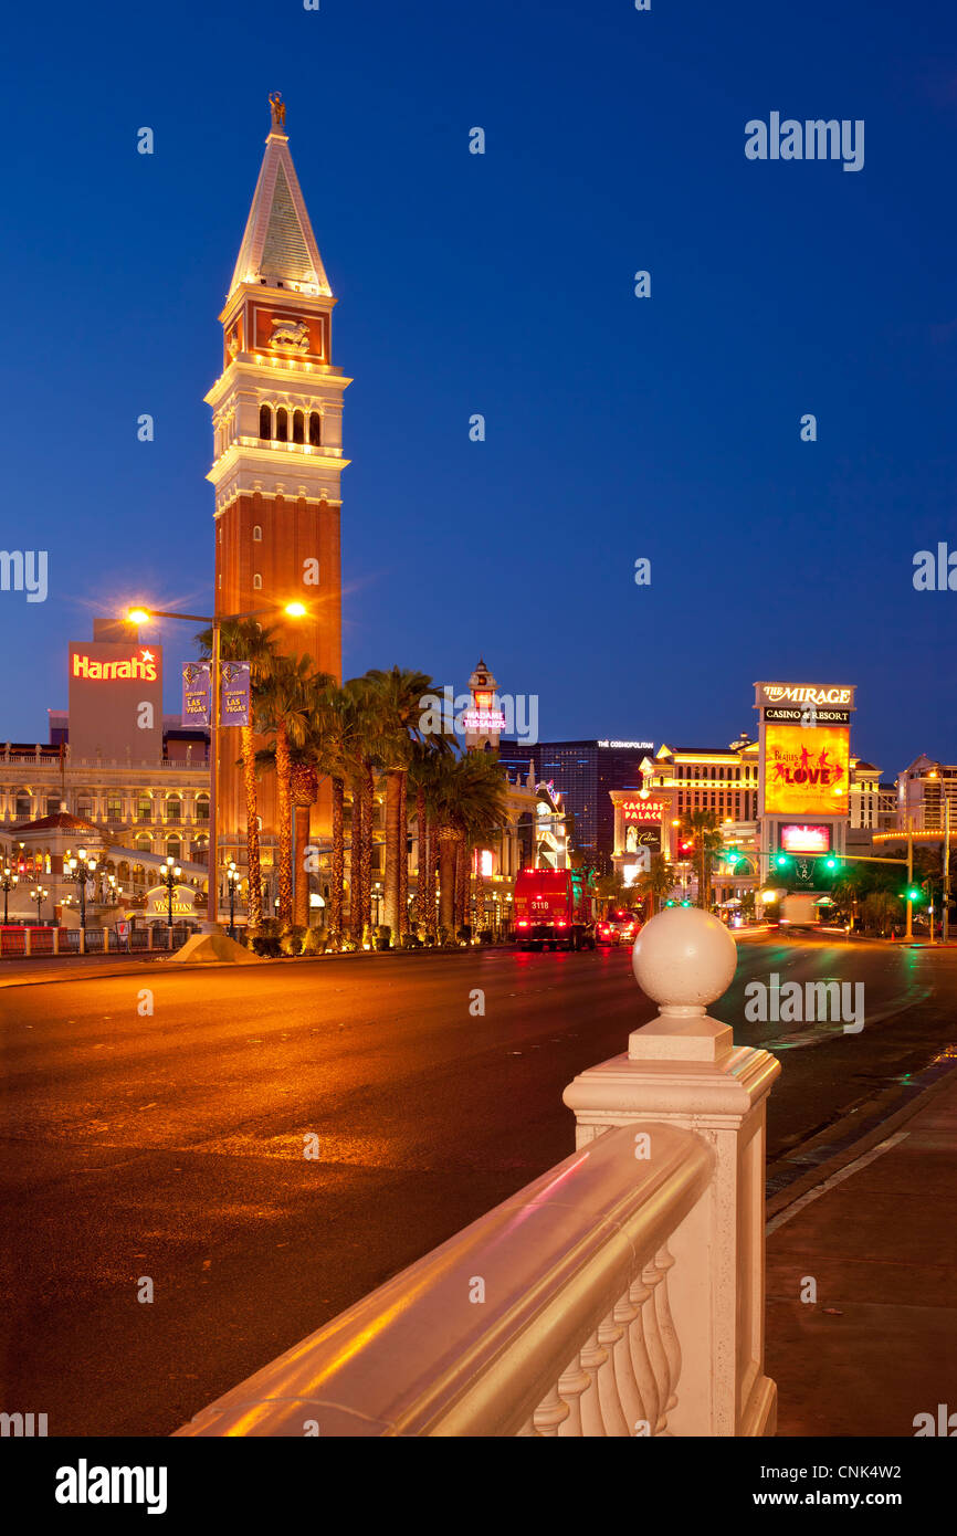
[[777, 1433], [911, 1438], [957, 1415], [957, 1072], [819, 1190], [770, 1223]]

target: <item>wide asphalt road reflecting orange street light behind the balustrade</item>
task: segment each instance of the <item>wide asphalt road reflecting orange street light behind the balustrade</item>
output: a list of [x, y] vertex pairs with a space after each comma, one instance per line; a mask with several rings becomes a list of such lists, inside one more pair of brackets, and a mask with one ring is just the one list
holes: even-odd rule
[[[865, 1029], [747, 1023], [771, 972], [863, 982]], [[28, 974], [0, 991], [0, 1409], [51, 1435], [169, 1433], [567, 1157], [564, 1086], [654, 1014], [627, 951]], [[743, 940], [710, 1012], [780, 1052], [770, 1158], [892, 1101], [955, 991], [957, 951]]]

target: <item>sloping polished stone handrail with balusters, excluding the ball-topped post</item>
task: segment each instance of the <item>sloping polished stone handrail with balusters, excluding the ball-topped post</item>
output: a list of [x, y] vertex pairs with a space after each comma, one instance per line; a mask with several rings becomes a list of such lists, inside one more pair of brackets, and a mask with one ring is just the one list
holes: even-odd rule
[[714, 1158], [688, 1130], [639, 1135], [648, 1158], [633, 1127], [599, 1137], [177, 1433], [667, 1433], [667, 1243]]

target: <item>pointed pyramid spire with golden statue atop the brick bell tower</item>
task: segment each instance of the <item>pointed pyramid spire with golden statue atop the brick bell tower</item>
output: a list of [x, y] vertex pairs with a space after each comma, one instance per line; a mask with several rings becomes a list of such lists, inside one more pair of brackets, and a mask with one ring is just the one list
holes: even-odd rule
[[278, 91], [270, 92], [269, 108], [272, 126], [227, 298], [232, 298], [243, 283], [292, 287], [332, 298], [289, 154], [286, 103]]

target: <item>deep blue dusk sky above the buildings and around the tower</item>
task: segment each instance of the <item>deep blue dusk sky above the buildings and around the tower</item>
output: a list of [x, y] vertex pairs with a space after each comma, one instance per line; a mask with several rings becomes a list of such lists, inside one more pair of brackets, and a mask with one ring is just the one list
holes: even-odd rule
[[[952, 5], [54, 3], [3, 55], [0, 545], [51, 591], [0, 593], [0, 737], [45, 739], [94, 613], [212, 601], [203, 395], [280, 89], [355, 378], [347, 674], [482, 653], [544, 739], [693, 745], [757, 677], [856, 682], [888, 776], [957, 759], [957, 593], [911, 584], [957, 547]], [[863, 118], [863, 170], [748, 161], [771, 111]]]

